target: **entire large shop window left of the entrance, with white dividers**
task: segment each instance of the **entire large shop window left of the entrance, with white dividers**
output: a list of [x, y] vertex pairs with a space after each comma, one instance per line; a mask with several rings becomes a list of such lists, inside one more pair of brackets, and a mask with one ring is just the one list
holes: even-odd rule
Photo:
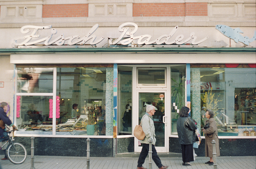
[[[54, 78], [53, 71], [56, 71]], [[56, 91], [53, 91], [54, 84]], [[52, 124], [54, 93], [56, 124]], [[18, 67], [16, 95], [16, 123], [21, 129], [17, 134], [52, 134], [53, 125], [56, 125], [57, 135], [109, 135], [113, 132], [112, 65]]]

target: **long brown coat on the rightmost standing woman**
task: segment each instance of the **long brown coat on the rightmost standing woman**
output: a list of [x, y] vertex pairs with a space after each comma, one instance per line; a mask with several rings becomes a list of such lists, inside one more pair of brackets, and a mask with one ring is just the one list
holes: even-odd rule
[[206, 123], [210, 124], [210, 127], [207, 130], [204, 130], [205, 133], [205, 157], [213, 157], [213, 148], [212, 140], [215, 140], [216, 146], [216, 156], [220, 156], [220, 147], [219, 147], [219, 138], [218, 138], [218, 128], [214, 118], [209, 118], [206, 120]]

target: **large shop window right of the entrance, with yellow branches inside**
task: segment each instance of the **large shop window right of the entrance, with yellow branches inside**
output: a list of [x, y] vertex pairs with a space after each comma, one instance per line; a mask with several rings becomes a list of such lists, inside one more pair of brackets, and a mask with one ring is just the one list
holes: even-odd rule
[[[256, 130], [256, 69], [229, 68], [225, 65], [191, 66], [192, 95], [200, 90], [201, 102], [191, 105], [201, 113], [204, 126], [206, 109], [213, 110], [220, 136], [249, 136]], [[198, 87], [196, 87], [198, 86]], [[192, 96], [193, 98], [193, 96]], [[196, 114], [196, 112], [193, 112]]]

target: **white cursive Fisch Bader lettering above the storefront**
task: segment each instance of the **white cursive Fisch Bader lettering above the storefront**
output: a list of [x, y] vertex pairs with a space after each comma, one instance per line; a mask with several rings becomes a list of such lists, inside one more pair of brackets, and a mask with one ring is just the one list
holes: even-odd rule
[[[134, 28], [132, 31], [129, 31], [131, 26], [133, 26]], [[24, 26], [21, 28], [21, 32], [26, 35], [23, 38], [15, 39], [13, 43], [17, 46], [34, 45], [34, 44], [39, 44], [39, 43], [43, 43], [43, 42], [44, 42], [44, 45], [52, 45], [52, 44], [63, 45], [63, 44], [65, 44], [65, 42], [68, 45], [84, 45], [86, 43], [95, 45], [95, 44], [103, 41], [103, 39], [105, 38], [105, 37], [101, 37], [101, 38], [97, 39], [96, 35], [93, 35], [93, 33], [97, 30], [98, 27], [99, 27], [99, 24], [94, 25], [90, 29], [90, 31], [86, 34], [86, 36], [84, 36], [82, 38], [78, 35], [64, 37], [64, 34], [62, 34], [62, 35], [52, 39], [53, 35], [57, 33], [57, 30], [51, 29], [51, 25], [45, 26], [45, 27]], [[32, 30], [30, 30], [30, 29], [32, 29]], [[40, 37], [39, 34], [37, 34], [38, 30], [42, 31], [42, 30], [47, 30], [47, 29], [51, 29], [51, 35], [42, 38], [42, 37]], [[133, 23], [133, 22], [123, 23], [118, 28], [118, 30], [120, 32], [122, 32], [121, 36], [114, 41], [113, 41], [113, 39], [109, 39], [109, 44], [112, 45], [112, 44], [117, 44], [120, 42], [123, 45], [127, 45], [127, 44], [130, 44], [133, 40], [137, 40], [137, 44], [140, 44], [140, 45], [141, 44], [184, 44], [184, 43], [187, 43], [191, 39], [193, 39], [191, 41], [191, 44], [199, 44], [208, 38], [208, 36], [206, 36], [205, 38], [203, 38], [199, 41], [195, 41], [196, 36], [195, 36], [194, 32], [192, 32], [190, 34], [190, 37], [186, 38], [185, 40], [184, 40], [184, 35], [178, 35], [175, 38], [173, 38], [173, 35], [175, 34], [176, 30], [178, 29], [178, 26], [176, 26], [172, 29], [172, 31], [169, 34], [161, 35], [157, 39], [152, 40], [151, 35], [134, 36], [137, 29], [138, 29], [138, 26], [136, 25], [136, 23]], [[126, 37], [124, 37], [124, 36], [126, 36]], [[25, 40], [23, 40], [23, 39], [25, 39]], [[18, 42], [18, 41], [22, 41], [22, 42]]]

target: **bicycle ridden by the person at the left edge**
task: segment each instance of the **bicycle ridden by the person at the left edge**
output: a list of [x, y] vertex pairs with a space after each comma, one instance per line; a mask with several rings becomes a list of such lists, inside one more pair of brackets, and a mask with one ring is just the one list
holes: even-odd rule
[[8, 159], [14, 164], [21, 164], [27, 158], [27, 150], [26, 150], [25, 146], [23, 146], [22, 143], [14, 142], [14, 137], [13, 138], [10, 137], [10, 134], [12, 132], [14, 132], [14, 130], [7, 132], [8, 137], [6, 137], [6, 139], [3, 140], [3, 141], [7, 141], [7, 142], [0, 148], [0, 150], [2, 150], [2, 148], [7, 143], [9, 143], [6, 148], [6, 153], [7, 153]]

